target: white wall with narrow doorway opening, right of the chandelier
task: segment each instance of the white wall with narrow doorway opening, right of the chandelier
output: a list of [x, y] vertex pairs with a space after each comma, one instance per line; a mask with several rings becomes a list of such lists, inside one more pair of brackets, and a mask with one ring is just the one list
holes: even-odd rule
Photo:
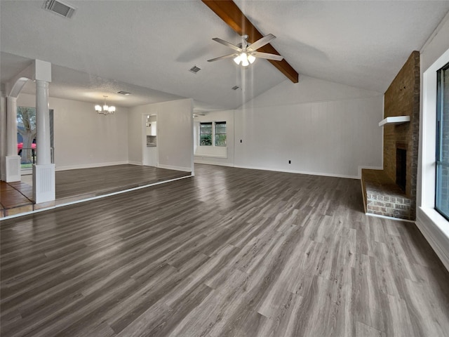
[[129, 160], [142, 164], [145, 124], [142, 114], [157, 115], [158, 166], [194, 172], [193, 105], [191, 99], [130, 108], [128, 117]]

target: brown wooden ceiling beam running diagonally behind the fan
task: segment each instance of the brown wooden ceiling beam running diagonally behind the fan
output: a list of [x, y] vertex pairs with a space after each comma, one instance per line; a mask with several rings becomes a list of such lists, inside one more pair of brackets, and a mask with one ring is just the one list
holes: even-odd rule
[[[229, 25], [239, 35], [248, 35], [248, 42], [253, 44], [258, 39], [261, 39], [263, 35], [257, 30], [256, 27], [246, 18], [246, 16], [240, 11], [240, 8], [232, 0], [201, 0], [206, 6], [208, 6], [215, 14], [217, 14], [223, 21]], [[262, 53], [271, 53], [281, 55], [274, 49], [271, 44], [266, 44], [260, 47], [257, 51]], [[300, 75], [288, 64], [284, 58], [281, 61], [267, 60], [280, 72], [282, 72], [290, 81], [297, 83]]]

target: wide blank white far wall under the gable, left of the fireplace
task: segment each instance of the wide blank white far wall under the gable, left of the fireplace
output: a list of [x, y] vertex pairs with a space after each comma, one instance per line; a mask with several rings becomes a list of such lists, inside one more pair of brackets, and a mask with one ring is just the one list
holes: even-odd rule
[[381, 93], [286, 80], [235, 111], [234, 166], [358, 178], [382, 169], [382, 118]]

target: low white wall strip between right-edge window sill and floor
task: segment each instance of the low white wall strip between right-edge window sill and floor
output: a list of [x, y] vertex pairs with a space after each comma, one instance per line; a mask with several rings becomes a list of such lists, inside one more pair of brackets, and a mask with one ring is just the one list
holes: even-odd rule
[[420, 208], [416, 212], [416, 226], [449, 271], [449, 237]]

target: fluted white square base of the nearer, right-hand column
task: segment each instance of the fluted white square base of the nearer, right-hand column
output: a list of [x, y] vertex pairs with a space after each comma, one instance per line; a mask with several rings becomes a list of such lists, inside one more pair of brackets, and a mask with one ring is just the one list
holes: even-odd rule
[[33, 165], [33, 199], [36, 204], [54, 201], [55, 164]]

